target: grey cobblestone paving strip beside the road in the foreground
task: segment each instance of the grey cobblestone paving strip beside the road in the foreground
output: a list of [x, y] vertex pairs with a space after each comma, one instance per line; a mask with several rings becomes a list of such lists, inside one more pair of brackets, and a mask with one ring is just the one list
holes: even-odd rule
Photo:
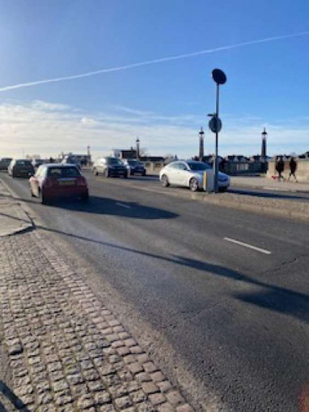
[[0, 262], [19, 409], [193, 411], [42, 232], [2, 238]]

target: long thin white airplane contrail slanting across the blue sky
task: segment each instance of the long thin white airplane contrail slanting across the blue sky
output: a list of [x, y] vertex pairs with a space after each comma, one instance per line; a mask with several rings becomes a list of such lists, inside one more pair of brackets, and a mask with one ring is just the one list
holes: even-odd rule
[[165, 61], [187, 59], [188, 57], [200, 56], [202, 54], [210, 54], [210, 53], [215, 53], [215, 52], [221, 52], [223, 50], [230, 50], [230, 49], [237, 49], [239, 47], [251, 46], [253, 44], [268, 43], [268, 42], [274, 42], [276, 40], [289, 39], [289, 38], [292, 38], [292, 37], [302, 37], [302, 36], [307, 36], [307, 35], [309, 35], [309, 31], [303, 31], [303, 32], [300, 32], [300, 33], [286, 34], [286, 35], [274, 36], [274, 37], [266, 37], [264, 39], [251, 40], [251, 41], [248, 41], [248, 42], [230, 44], [228, 46], [216, 47], [214, 49], [204, 49], [204, 50], [200, 50], [198, 52], [178, 54], [178, 55], [175, 55], [175, 56], [163, 57], [163, 58], [160, 58], [160, 59], [140, 61], [139, 63], [132, 63], [132, 64], [127, 64], [125, 66], [112, 67], [112, 68], [108, 68], [108, 69], [100, 69], [100, 70], [95, 70], [95, 71], [92, 71], [92, 72], [80, 73], [80, 74], [77, 74], [77, 75], [54, 77], [53, 79], [45, 79], [45, 80], [37, 80], [37, 81], [34, 81], [34, 82], [12, 84], [11, 86], [0, 87], [0, 91], [21, 89], [22, 87], [31, 87], [31, 86], [37, 86], [39, 84], [46, 84], [46, 83], [53, 83], [53, 82], [64, 82], [65, 80], [81, 79], [82, 77], [90, 77], [90, 76], [95, 76], [95, 75], [99, 75], [99, 74], [102, 74], [102, 73], [111, 73], [111, 72], [116, 72], [116, 71], [121, 71], [121, 70], [128, 70], [128, 69], [132, 69], [132, 68], [135, 68], [135, 67], [148, 66], [148, 65], [156, 64], [156, 63], [163, 63]]

